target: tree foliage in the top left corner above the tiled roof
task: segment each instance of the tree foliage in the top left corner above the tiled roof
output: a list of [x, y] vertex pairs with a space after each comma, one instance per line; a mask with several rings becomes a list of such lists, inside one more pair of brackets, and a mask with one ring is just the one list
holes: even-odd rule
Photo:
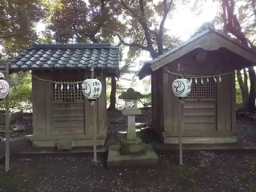
[[9, 57], [29, 46], [31, 39], [36, 39], [34, 24], [46, 16], [46, 5], [40, 0], [1, 2], [0, 44], [4, 46]]

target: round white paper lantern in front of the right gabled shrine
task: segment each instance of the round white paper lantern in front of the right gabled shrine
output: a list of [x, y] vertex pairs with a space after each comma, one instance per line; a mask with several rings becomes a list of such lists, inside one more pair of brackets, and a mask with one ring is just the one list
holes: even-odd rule
[[191, 91], [191, 82], [188, 79], [176, 79], [172, 84], [174, 95], [177, 97], [187, 97]]

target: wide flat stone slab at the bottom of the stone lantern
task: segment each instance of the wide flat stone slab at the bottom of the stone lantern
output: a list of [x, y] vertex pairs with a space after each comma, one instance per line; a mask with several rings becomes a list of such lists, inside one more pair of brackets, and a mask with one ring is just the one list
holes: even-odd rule
[[121, 145], [110, 145], [107, 164], [114, 166], [146, 166], [159, 164], [159, 158], [151, 145], [145, 144], [145, 154], [121, 155]]

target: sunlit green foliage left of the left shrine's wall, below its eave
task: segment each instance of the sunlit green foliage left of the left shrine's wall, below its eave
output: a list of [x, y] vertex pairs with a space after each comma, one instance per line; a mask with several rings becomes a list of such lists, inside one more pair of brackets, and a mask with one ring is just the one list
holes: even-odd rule
[[[30, 73], [14, 73], [10, 77], [10, 110], [29, 111], [32, 109]], [[0, 102], [0, 109], [5, 109], [5, 99]]]

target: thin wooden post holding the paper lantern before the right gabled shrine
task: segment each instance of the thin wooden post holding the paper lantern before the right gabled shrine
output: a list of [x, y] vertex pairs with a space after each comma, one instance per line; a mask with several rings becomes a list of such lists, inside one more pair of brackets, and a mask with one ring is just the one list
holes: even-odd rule
[[[180, 64], [178, 64], [178, 78], [180, 78]], [[182, 166], [183, 162], [182, 162], [182, 124], [183, 124], [183, 103], [184, 100], [182, 98], [178, 98], [178, 115], [179, 115], [179, 119], [178, 119], [178, 132], [179, 132], [179, 165]]]

